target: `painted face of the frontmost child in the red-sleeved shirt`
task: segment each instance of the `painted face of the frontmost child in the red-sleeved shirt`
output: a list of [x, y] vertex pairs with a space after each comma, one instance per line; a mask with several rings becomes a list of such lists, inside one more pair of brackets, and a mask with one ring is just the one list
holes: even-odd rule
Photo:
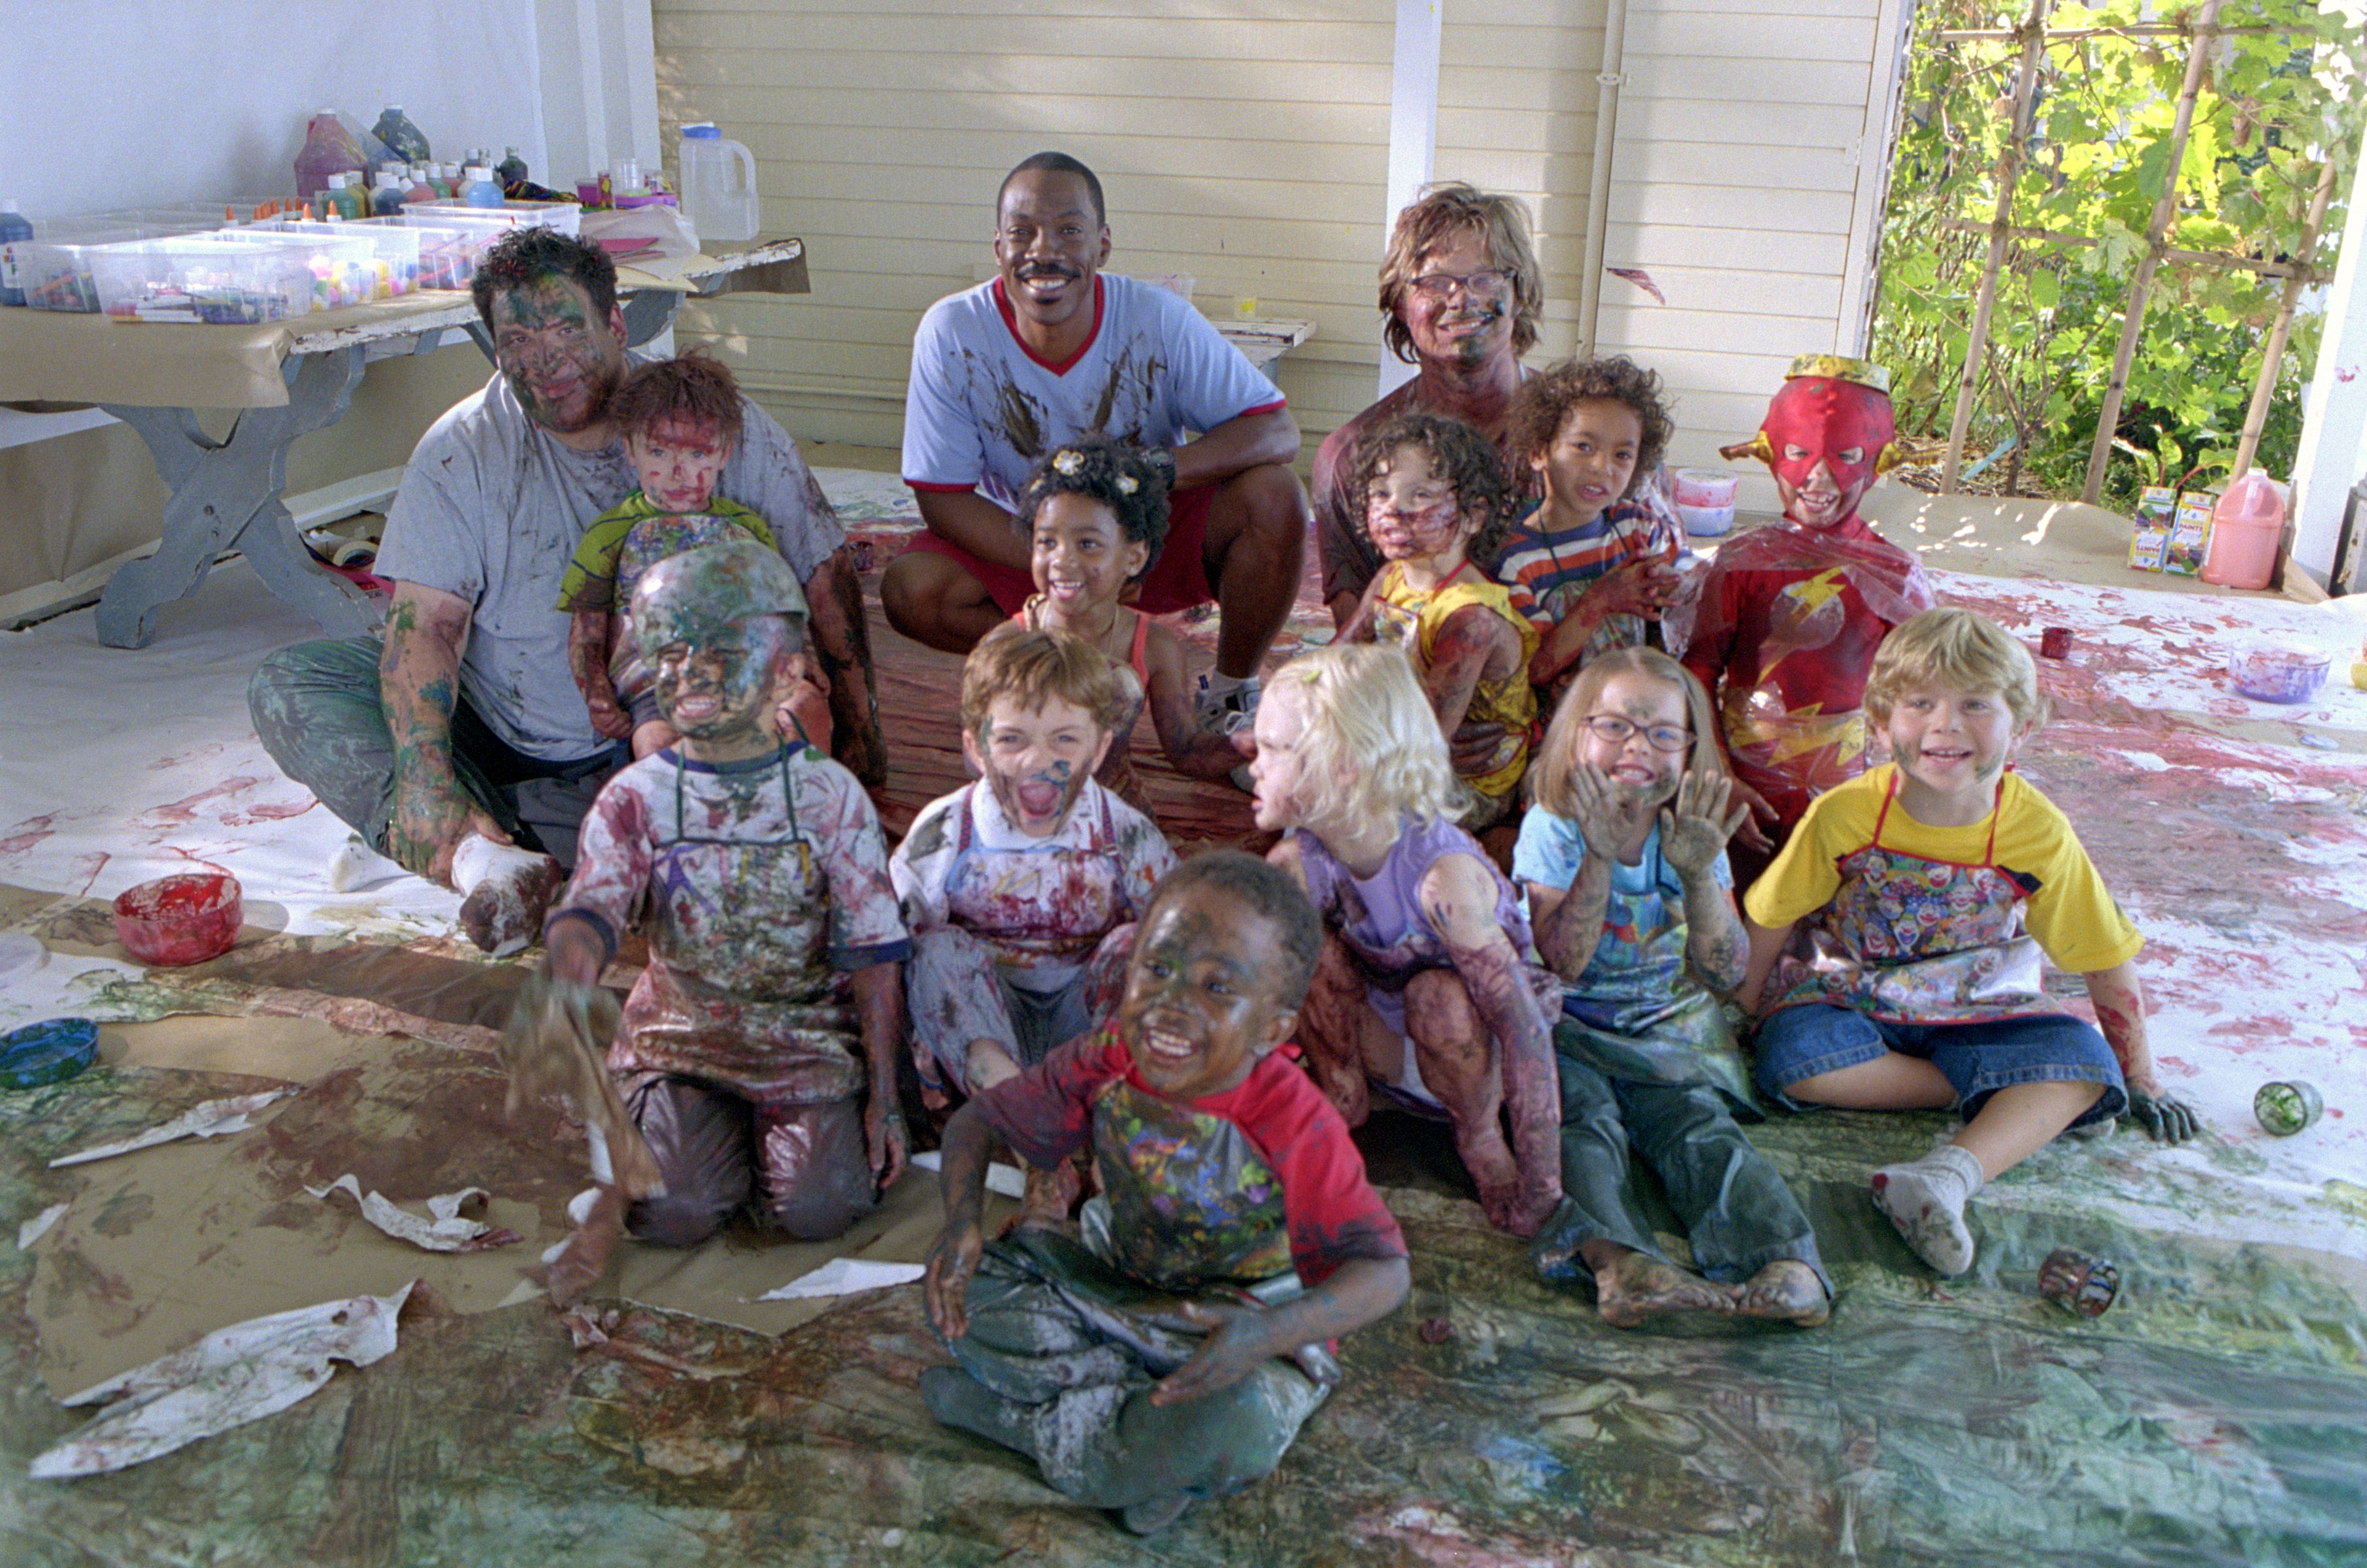
[[1143, 1083], [1176, 1100], [1238, 1088], [1290, 1038], [1283, 934], [1238, 894], [1195, 882], [1160, 899], [1134, 939], [1117, 1034]]

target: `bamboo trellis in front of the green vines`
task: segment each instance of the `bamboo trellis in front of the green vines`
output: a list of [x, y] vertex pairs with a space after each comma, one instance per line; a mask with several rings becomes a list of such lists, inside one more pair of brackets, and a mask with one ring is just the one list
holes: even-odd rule
[[2277, 371], [2284, 362], [2284, 345], [2291, 336], [2294, 310], [2301, 303], [2301, 291], [2317, 281], [2310, 267], [2310, 255], [2317, 251], [2317, 234], [2327, 215], [2327, 203], [2334, 196], [2334, 149], [2327, 151], [2327, 163], [2317, 177], [2317, 189], [2310, 199], [2310, 215], [2303, 225], [2298, 260], [2256, 260], [2249, 255], [2227, 255], [2218, 251], [2182, 251], [2166, 244], [2171, 220], [2178, 215], [2178, 170], [2185, 161], [2187, 132], [2194, 123], [2194, 102], [2201, 92], [2201, 78], [2208, 66], [2211, 45], [2218, 38], [2234, 33], [2296, 33], [2301, 28], [2279, 26], [2218, 26], [2220, 0], [2204, 0], [2189, 17], [2166, 24], [2130, 24], [2130, 26], [2102, 26], [2102, 28], [2059, 28], [2047, 31], [2045, 17], [2052, 0], [2031, 0], [2031, 17], [2019, 28], [1950, 28], [1936, 33], [1939, 43], [2014, 43], [2021, 45], [2021, 73], [2014, 83], [2014, 121], [2012, 135], [2005, 149], [1998, 154], [1998, 210], [1988, 222], [1972, 218], [1948, 218], [1941, 220], [1946, 229], [1986, 232], [1988, 234], [1988, 258], [1981, 267], [1981, 286], [1974, 296], [1972, 307], [1972, 331], [1965, 341], [1965, 364], [1958, 376], [1955, 388], [1955, 414], [1948, 421], [1948, 449], [1941, 459], [1941, 494], [1955, 494], [1958, 475], [1965, 461], [1965, 438], [1972, 426], [1972, 407], [1976, 400], [1976, 388], [1981, 381], [1981, 367], [1988, 355], [1988, 322], [1998, 298], [1998, 272], [2005, 265], [2007, 241], [2026, 239], [2050, 246], [2095, 246], [2102, 244], [2088, 234], [2062, 234], [2057, 229], [2033, 229], [2017, 227], [2012, 222], [2014, 208], [2014, 182], [2021, 170], [2021, 149], [2029, 144], [2031, 135], [2031, 111], [2038, 90], [2038, 66], [2045, 59], [2045, 50], [2052, 43], [2071, 43], [2083, 38], [2185, 38], [2187, 40], [2187, 73], [2178, 95], [2178, 114], [2171, 123], [2171, 147], [2168, 147], [2168, 175], [2163, 180], [2161, 196], [2154, 201], [2152, 218], [2145, 225], [2145, 255], [2137, 260], [2137, 272], [2128, 286], [2128, 305], [2121, 317], [2121, 343], [2111, 359], [2111, 378], [2104, 385], [2104, 407], [2097, 416], [2095, 445], [2088, 452], [2088, 482], [2081, 499], [2095, 504], [2104, 492], [2104, 468], [2111, 459], [2111, 438], [2121, 423], [2121, 397], [2128, 388], [2128, 369], [2137, 352], [2137, 341], [2145, 333], [2145, 307], [2147, 296], [2154, 286], [2154, 272], [2163, 260], [2223, 267], [2232, 272], [2253, 272], [2265, 277], [2284, 279], [2284, 298], [2277, 307], [2277, 322], [2268, 336], [2268, 350], [2260, 359], [2260, 378], [2253, 385], [2251, 409], [2244, 416], [2244, 438], [2237, 447], [2234, 475], [2242, 475], [2251, 466], [2251, 456], [2260, 445], [2260, 428], [2268, 423], [2268, 402], [2275, 395]]

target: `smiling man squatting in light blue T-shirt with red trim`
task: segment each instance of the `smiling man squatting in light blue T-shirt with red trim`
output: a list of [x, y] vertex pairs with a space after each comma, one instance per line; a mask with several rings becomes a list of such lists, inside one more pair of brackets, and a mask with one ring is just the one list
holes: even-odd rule
[[[1027, 473], [1101, 430], [1167, 471], [1167, 546], [1136, 608], [1217, 601], [1217, 669], [1198, 714], [1238, 728], [1257, 710], [1257, 669], [1307, 549], [1288, 400], [1191, 300], [1101, 270], [1101, 180], [1068, 154], [1037, 154], [1004, 177], [994, 260], [992, 281], [930, 305], [914, 336], [904, 482], [928, 532], [881, 577], [888, 622], [968, 653], [1018, 615], [1034, 591], [1013, 516]], [[1191, 430], [1200, 435], [1184, 440]]]

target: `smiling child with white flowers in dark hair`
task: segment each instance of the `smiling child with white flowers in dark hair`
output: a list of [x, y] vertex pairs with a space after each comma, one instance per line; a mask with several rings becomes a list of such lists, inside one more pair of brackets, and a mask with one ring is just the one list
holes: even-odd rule
[[1065, 631], [1117, 667], [1120, 702], [1101, 783], [1148, 811], [1134, 780], [1134, 721], [1150, 705], [1160, 747], [1179, 773], [1224, 778], [1240, 766], [1231, 738], [1200, 728], [1184, 681], [1184, 643], [1141, 610], [1117, 603], [1157, 563], [1167, 539], [1167, 478], [1141, 449], [1084, 435], [1027, 478], [1020, 525], [1030, 537], [1034, 596], [1013, 617]]

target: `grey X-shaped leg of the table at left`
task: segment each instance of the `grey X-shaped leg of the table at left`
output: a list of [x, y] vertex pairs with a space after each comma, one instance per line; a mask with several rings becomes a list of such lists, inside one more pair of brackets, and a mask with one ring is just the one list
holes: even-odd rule
[[362, 348], [303, 355], [282, 367], [289, 400], [277, 409], [241, 409], [230, 440], [208, 438], [192, 409], [104, 404], [147, 442], [156, 475], [173, 490], [163, 508], [163, 544], [107, 579], [99, 594], [99, 641], [147, 648], [156, 610], [187, 598], [237, 546], [284, 603], [331, 636], [372, 631], [381, 605], [312, 558], [296, 520], [279, 504], [289, 482], [289, 447], [298, 435], [336, 423], [362, 381]]

